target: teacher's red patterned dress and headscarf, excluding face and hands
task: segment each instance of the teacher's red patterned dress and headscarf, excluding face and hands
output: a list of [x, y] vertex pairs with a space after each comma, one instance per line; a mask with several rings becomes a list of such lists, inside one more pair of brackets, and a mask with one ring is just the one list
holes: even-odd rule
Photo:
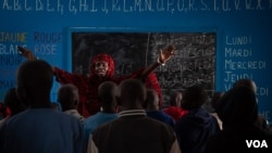
[[[109, 69], [107, 72], [107, 75], [103, 78], [99, 78], [95, 74], [95, 63], [97, 63], [97, 61], [108, 62]], [[145, 67], [143, 67], [139, 71], [131, 75], [114, 77], [115, 64], [114, 64], [113, 59], [108, 54], [96, 55], [91, 60], [90, 65], [91, 65], [90, 76], [71, 74], [58, 67], [54, 67], [57, 80], [60, 84], [73, 84], [78, 88], [78, 92], [79, 92], [78, 112], [84, 117], [88, 117], [100, 111], [100, 105], [98, 102], [98, 87], [101, 82], [111, 80], [116, 84], [120, 84], [124, 79], [139, 77], [140, 73], [145, 69]], [[149, 76], [146, 78], [145, 84], [147, 88], [154, 89], [158, 92], [158, 95], [160, 98], [160, 104], [162, 104], [161, 87], [157, 79], [156, 74], [150, 73]]]

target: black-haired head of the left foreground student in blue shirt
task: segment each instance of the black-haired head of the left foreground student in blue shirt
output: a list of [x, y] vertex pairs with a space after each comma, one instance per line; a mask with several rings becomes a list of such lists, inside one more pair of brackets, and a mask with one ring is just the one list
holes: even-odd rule
[[[17, 95], [27, 106], [50, 106], [53, 71], [49, 63], [42, 60], [23, 62], [16, 72], [16, 84]], [[42, 103], [34, 101], [34, 98]]]

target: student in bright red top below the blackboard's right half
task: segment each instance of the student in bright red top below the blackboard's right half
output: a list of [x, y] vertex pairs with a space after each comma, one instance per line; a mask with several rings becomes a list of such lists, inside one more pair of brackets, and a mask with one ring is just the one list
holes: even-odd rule
[[171, 115], [175, 122], [188, 113], [188, 111], [181, 107], [182, 99], [183, 92], [181, 90], [174, 90], [170, 95], [170, 106], [163, 110], [163, 112]]

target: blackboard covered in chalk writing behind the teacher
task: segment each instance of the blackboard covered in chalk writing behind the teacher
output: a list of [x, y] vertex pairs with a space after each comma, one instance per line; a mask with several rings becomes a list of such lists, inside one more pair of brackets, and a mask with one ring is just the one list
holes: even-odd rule
[[170, 43], [175, 44], [175, 55], [154, 71], [165, 105], [172, 90], [196, 84], [212, 94], [215, 33], [72, 33], [72, 69], [87, 75], [94, 55], [108, 53], [115, 61], [115, 75], [128, 75], [156, 62], [159, 50]]

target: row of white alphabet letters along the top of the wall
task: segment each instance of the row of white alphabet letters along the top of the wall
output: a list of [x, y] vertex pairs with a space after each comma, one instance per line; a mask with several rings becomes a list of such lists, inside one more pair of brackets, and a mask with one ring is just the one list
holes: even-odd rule
[[272, 9], [271, 0], [3, 0], [1, 9], [5, 11], [73, 13], [114, 13], [114, 12], [230, 12], [265, 11]]

